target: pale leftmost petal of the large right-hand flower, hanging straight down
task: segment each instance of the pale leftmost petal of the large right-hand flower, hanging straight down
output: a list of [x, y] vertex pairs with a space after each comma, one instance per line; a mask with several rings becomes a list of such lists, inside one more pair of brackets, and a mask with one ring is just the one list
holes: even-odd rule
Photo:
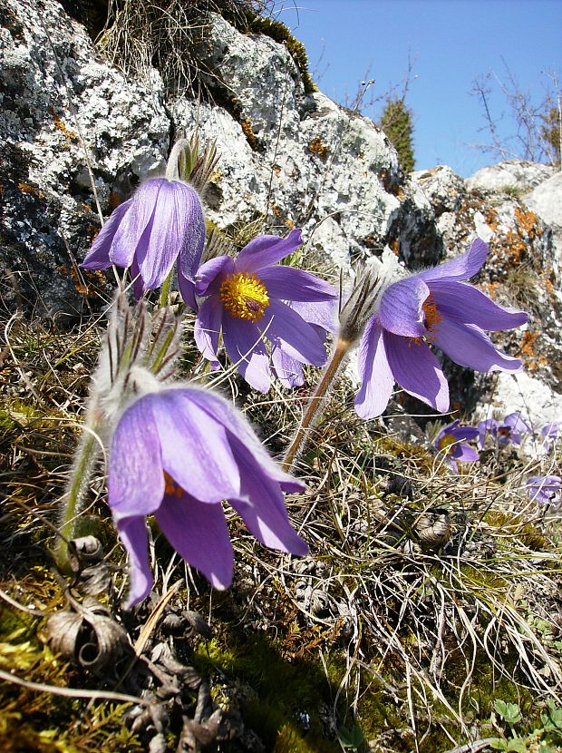
[[355, 411], [364, 419], [380, 416], [391, 399], [394, 376], [386, 358], [383, 329], [375, 317], [369, 319], [361, 338], [358, 370], [361, 388]]

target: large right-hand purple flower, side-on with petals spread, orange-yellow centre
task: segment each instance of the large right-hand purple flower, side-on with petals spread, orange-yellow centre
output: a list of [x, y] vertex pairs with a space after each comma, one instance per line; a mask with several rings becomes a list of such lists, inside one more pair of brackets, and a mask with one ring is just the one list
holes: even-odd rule
[[527, 314], [498, 306], [463, 281], [479, 271], [487, 254], [488, 246], [477, 239], [456, 259], [384, 290], [359, 347], [359, 416], [380, 416], [394, 382], [432, 408], [448, 410], [449, 385], [432, 345], [456, 364], [476, 371], [521, 368], [521, 361], [501, 353], [483, 330], [518, 327]]

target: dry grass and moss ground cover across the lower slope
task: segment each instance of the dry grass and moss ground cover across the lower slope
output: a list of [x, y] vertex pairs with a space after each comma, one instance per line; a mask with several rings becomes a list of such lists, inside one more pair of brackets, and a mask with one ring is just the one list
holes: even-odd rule
[[[183, 367], [205, 382], [191, 326]], [[100, 465], [81, 533], [103, 553], [58, 573], [60, 496], [101, 328], [5, 324], [3, 749], [445, 751], [514, 736], [529, 747], [509, 749], [557, 749], [537, 729], [562, 687], [560, 523], [524, 494], [544, 461], [488, 454], [451, 474], [412, 432], [355, 416], [345, 378], [296, 465], [306, 492], [287, 500], [309, 557], [265, 551], [229, 513], [235, 581], [212, 592], [153, 528], [154, 596], [122, 612]], [[258, 396], [229, 372], [218, 387], [280, 458], [308, 388]], [[63, 624], [77, 626], [70, 642]], [[519, 709], [511, 727], [499, 701]]]

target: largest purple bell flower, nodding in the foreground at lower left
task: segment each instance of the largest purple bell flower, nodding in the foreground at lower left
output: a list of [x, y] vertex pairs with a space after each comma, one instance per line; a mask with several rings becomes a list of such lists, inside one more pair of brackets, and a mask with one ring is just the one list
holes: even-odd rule
[[208, 390], [174, 386], [137, 398], [111, 440], [108, 488], [131, 561], [128, 607], [152, 587], [145, 523], [150, 514], [174, 549], [218, 589], [228, 588], [233, 571], [224, 499], [261, 543], [308, 552], [283, 498], [303, 484], [274, 463], [226, 400]]

